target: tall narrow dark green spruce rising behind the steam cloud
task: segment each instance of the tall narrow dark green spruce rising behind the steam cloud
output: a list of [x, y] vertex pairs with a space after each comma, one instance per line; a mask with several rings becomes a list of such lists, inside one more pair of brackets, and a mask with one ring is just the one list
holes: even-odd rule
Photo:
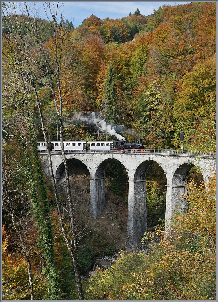
[[119, 122], [119, 96], [117, 93], [116, 82], [117, 80], [114, 75], [114, 66], [111, 62], [108, 67], [107, 78], [104, 82], [104, 101], [106, 104], [105, 118], [107, 123], [114, 123], [115, 125]]

